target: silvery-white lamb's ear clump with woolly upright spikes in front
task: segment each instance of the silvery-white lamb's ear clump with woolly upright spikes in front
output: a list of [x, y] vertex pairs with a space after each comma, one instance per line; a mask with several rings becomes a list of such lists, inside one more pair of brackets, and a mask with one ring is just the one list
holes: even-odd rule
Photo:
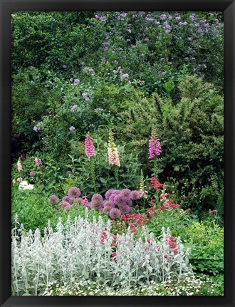
[[102, 217], [89, 222], [85, 217], [68, 216], [56, 230], [51, 223], [41, 236], [36, 231], [12, 234], [12, 295], [41, 295], [52, 283], [73, 286], [83, 280], [114, 288], [132, 288], [162, 282], [191, 271], [188, 251], [180, 238], [174, 239], [169, 229], [162, 229], [160, 239], [153, 234], [135, 241], [131, 228], [126, 234], [110, 232], [111, 222]]

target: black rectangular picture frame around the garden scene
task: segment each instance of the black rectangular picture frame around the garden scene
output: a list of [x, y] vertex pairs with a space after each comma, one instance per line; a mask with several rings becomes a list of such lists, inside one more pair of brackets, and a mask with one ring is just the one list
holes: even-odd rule
[[[224, 296], [11, 296], [11, 12], [224, 11]], [[0, 0], [1, 20], [1, 264], [0, 305], [10, 306], [235, 306], [234, 137], [235, 3], [221, 0]]]

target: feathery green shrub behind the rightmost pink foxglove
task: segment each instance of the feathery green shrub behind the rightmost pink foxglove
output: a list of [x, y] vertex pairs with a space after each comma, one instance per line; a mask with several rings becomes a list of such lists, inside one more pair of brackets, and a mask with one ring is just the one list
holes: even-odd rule
[[197, 76], [184, 76], [179, 91], [177, 102], [157, 93], [152, 99], [136, 95], [125, 134], [130, 148], [145, 148], [140, 158], [150, 169], [147, 147], [150, 129], [155, 126], [162, 145], [158, 160], [164, 170], [161, 181], [174, 177], [180, 190], [186, 184], [186, 196], [189, 192], [195, 195], [191, 203], [184, 200], [185, 204], [197, 209], [202, 202], [200, 206], [209, 209], [214, 207], [223, 188], [223, 98], [213, 85]]

